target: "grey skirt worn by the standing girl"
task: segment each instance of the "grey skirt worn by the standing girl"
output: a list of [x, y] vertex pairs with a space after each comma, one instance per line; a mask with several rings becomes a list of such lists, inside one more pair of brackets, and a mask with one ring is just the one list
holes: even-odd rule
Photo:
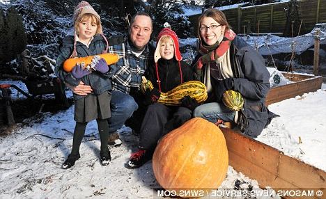
[[106, 91], [100, 95], [87, 95], [75, 100], [75, 121], [90, 122], [95, 119], [111, 118], [111, 93]]

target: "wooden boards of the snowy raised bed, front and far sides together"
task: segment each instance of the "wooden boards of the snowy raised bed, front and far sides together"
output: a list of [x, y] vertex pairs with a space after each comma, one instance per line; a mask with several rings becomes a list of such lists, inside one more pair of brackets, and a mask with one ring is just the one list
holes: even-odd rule
[[[322, 78], [302, 74], [284, 73], [294, 83], [272, 88], [266, 104], [286, 100], [321, 88]], [[244, 175], [258, 181], [259, 186], [279, 190], [313, 190], [313, 197], [326, 198], [326, 172], [283, 152], [240, 134], [237, 129], [221, 128], [228, 146], [229, 164]], [[325, 157], [320, 157], [325, 159]], [[323, 196], [316, 196], [316, 191]], [[284, 197], [290, 198], [290, 197]], [[297, 198], [297, 197], [294, 197]], [[300, 197], [301, 198], [301, 197]]]

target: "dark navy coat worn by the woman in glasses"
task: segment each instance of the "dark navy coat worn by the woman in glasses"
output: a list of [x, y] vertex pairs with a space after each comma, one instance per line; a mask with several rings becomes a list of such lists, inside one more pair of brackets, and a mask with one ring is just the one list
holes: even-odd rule
[[[199, 57], [200, 55], [196, 59]], [[270, 90], [270, 73], [263, 57], [238, 36], [231, 43], [230, 59], [234, 76], [233, 90], [244, 97], [238, 125], [243, 134], [255, 138], [275, 116], [265, 106], [265, 97]], [[214, 79], [212, 88], [214, 90]], [[214, 96], [209, 96], [209, 99], [208, 102], [217, 101]]]

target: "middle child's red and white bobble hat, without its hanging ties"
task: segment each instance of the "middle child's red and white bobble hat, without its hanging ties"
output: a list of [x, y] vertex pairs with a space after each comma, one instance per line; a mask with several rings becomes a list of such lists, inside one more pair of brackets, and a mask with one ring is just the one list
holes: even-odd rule
[[179, 50], [179, 39], [178, 35], [174, 31], [172, 31], [169, 28], [164, 28], [162, 31], [160, 31], [159, 35], [157, 36], [157, 42], [156, 42], [156, 49], [154, 54], [154, 61], [157, 63], [157, 61], [161, 58], [160, 54], [160, 41], [162, 36], [167, 35], [173, 40], [174, 45], [174, 56], [176, 56], [177, 61], [181, 61], [183, 58], [181, 56], [180, 50]]

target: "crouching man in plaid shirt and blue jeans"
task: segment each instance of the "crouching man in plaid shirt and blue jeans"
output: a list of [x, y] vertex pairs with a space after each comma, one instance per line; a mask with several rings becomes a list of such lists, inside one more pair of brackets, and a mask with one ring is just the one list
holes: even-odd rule
[[[148, 63], [153, 62], [153, 50], [148, 42], [153, 31], [153, 23], [146, 13], [137, 13], [132, 17], [129, 33], [125, 38], [110, 43], [109, 53], [116, 53], [121, 58], [118, 63], [112, 65], [111, 92], [111, 120], [109, 120], [110, 145], [121, 145], [116, 130], [120, 129], [125, 121], [132, 117], [134, 111], [139, 108], [137, 95], [141, 83], [141, 76], [147, 69]], [[112, 41], [112, 40], [111, 40]], [[150, 56], [152, 55], [152, 56]], [[80, 83], [79, 86], [69, 86], [77, 95], [88, 95], [91, 86]]]

